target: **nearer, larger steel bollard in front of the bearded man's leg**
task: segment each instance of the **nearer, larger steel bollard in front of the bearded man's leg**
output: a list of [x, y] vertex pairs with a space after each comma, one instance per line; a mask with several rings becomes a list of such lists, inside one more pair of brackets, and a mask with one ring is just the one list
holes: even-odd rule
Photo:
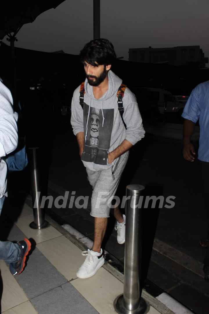
[[145, 300], [140, 298], [142, 209], [137, 205], [143, 190], [139, 184], [126, 187], [124, 286], [123, 295], [114, 301], [115, 311], [121, 314], [142, 314], [147, 309]]

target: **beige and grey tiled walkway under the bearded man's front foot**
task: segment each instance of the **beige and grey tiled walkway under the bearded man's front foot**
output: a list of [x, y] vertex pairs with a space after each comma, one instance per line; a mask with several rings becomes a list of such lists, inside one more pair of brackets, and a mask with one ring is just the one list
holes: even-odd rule
[[[8, 239], [17, 241], [26, 236], [36, 245], [27, 267], [18, 276], [12, 276], [6, 263], [0, 261], [2, 313], [116, 313], [113, 301], [123, 293], [123, 283], [105, 266], [89, 279], [78, 279], [76, 271], [84, 257], [81, 249], [69, 239], [68, 232], [55, 223], [43, 230], [33, 230], [29, 227], [31, 221], [32, 209], [24, 204]], [[160, 307], [160, 302], [156, 302], [156, 307]], [[173, 313], [165, 306], [160, 312]], [[148, 311], [149, 314], [160, 312], [153, 306]]]

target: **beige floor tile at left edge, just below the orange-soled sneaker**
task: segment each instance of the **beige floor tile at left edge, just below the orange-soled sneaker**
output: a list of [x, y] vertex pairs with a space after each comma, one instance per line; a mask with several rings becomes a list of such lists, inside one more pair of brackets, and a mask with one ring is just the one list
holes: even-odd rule
[[2, 312], [28, 300], [4, 261], [0, 261], [3, 281]]

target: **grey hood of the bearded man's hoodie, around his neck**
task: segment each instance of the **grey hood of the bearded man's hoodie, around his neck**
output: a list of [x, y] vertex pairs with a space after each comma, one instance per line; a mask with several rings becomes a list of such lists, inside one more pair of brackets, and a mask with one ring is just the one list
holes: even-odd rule
[[96, 101], [105, 101], [105, 100], [108, 100], [110, 97], [112, 97], [112, 95], [114, 95], [118, 91], [118, 88], [120, 87], [121, 83], [122, 83], [122, 79], [119, 78], [111, 70], [109, 70], [108, 71], [108, 89], [104, 93], [104, 95], [102, 95], [102, 97], [100, 97], [99, 99], [96, 99], [94, 97], [93, 86], [91, 86], [88, 83], [87, 78], [85, 80], [84, 86], [85, 86], [85, 92], [89, 97], [93, 98]]

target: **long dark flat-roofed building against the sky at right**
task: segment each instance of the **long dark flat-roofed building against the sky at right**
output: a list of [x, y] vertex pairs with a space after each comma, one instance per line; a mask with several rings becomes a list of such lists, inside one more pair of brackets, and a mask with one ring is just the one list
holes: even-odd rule
[[172, 48], [132, 48], [129, 61], [146, 63], [169, 63], [175, 66], [205, 68], [208, 58], [200, 46], [177, 46]]

